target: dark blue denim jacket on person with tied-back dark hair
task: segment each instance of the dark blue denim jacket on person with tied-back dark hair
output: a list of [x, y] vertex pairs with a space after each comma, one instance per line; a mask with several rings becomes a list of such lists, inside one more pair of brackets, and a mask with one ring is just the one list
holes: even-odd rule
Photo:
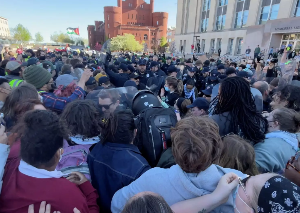
[[92, 185], [97, 189], [100, 212], [111, 212], [110, 203], [119, 189], [149, 170], [146, 159], [133, 144], [97, 143], [88, 155]]

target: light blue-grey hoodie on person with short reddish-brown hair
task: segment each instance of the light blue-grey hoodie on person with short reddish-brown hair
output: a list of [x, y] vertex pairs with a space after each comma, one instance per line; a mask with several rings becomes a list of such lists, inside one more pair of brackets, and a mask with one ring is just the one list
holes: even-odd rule
[[[115, 193], [111, 203], [111, 211], [113, 213], [121, 212], [132, 196], [143, 191], [160, 194], [170, 206], [183, 200], [211, 194], [216, 189], [220, 178], [229, 172], [240, 177], [243, 176], [240, 171], [226, 169], [214, 164], [200, 173], [186, 173], [179, 165], [174, 165], [170, 169], [152, 168], [130, 185]], [[226, 203], [211, 212], [233, 213], [233, 207], [234, 201], [232, 195], [229, 195]]]

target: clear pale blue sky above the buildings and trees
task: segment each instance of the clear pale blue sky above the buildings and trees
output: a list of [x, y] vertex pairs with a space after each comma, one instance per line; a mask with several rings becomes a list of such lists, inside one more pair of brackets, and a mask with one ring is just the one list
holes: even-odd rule
[[[66, 33], [68, 27], [79, 27], [80, 37], [88, 38], [87, 26], [104, 20], [105, 6], [117, 6], [117, 0], [1, 0], [0, 16], [8, 19], [10, 29], [22, 24], [33, 38], [40, 32], [44, 42], [51, 42], [51, 34]], [[175, 26], [177, 0], [154, 0], [154, 12], [169, 13], [168, 27]]]

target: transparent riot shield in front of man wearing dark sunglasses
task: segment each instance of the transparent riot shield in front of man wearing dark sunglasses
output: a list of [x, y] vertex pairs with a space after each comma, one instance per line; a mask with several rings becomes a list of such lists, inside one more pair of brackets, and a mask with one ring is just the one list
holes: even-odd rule
[[85, 99], [93, 100], [103, 117], [108, 117], [115, 110], [131, 109], [132, 99], [137, 92], [137, 88], [132, 86], [94, 90], [89, 92]]

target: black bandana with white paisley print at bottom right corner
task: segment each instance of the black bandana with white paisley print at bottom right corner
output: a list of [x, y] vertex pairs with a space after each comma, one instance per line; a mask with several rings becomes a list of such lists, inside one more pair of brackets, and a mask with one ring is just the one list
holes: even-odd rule
[[258, 212], [300, 212], [300, 187], [282, 176], [265, 182], [258, 197]]

